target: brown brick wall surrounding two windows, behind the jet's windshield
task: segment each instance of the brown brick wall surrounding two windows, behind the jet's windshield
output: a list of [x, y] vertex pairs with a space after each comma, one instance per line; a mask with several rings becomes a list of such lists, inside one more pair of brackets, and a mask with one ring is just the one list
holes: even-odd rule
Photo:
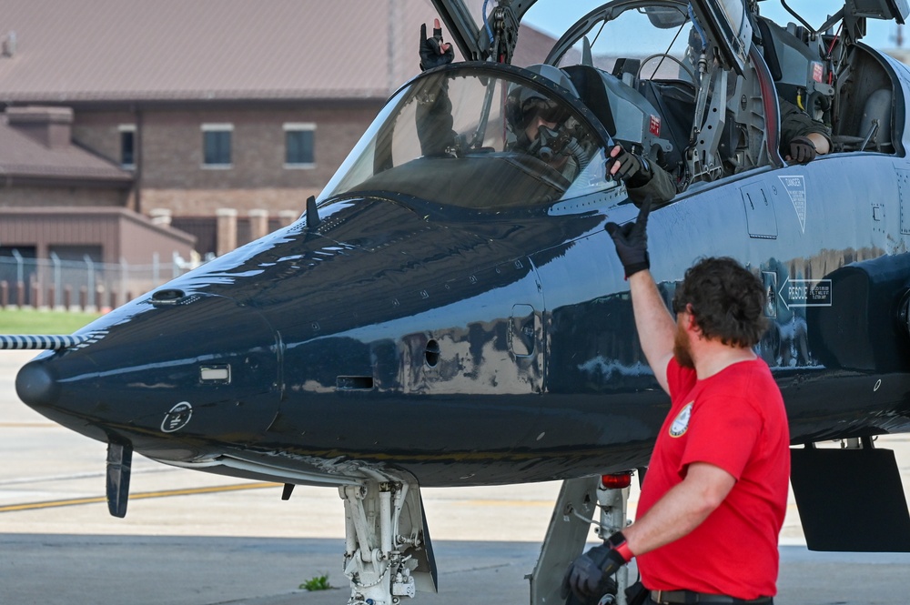
[[[175, 217], [213, 217], [220, 207], [301, 212], [318, 195], [357, 143], [381, 104], [236, 109], [145, 109], [140, 132], [141, 209], [167, 208]], [[119, 162], [117, 126], [135, 124], [130, 112], [77, 111], [74, 138]], [[316, 124], [315, 166], [286, 168], [285, 123]], [[231, 124], [228, 169], [203, 166], [203, 124]]]

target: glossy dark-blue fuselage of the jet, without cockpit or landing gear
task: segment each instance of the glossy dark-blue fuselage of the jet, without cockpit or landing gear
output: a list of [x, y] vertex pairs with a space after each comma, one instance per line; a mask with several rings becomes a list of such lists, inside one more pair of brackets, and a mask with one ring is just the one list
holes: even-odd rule
[[[906, 72], [888, 68], [903, 107]], [[699, 257], [763, 278], [758, 352], [794, 443], [910, 430], [901, 147], [695, 184], [652, 211], [668, 301]], [[603, 230], [637, 213], [597, 197], [496, 211], [329, 198], [319, 224], [302, 217], [99, 319], [83, 330], [96, 341], [26, 367], [20, 382], [40, 388], [20, 394], [94, 439], [239, 477], [376, 469], [458, 486], [642, 467], [669, 400]]]

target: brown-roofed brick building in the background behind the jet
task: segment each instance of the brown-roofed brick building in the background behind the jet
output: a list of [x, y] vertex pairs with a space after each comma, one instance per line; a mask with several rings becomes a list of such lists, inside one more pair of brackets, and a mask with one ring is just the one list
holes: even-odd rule
[[[434, 16], [430, 0], [0, 0], [0, 126], [62, 127], [59, 146], [104, 173], [67, 181], [45, 157], [0, 189], [0, 211], [118, 207], [192, 234], [202, 254], [265, 235], [418, 72]], [[515, 62], [552, 42], [523, 34]], [[0, 255], [16, 244], [2, 217]]]

